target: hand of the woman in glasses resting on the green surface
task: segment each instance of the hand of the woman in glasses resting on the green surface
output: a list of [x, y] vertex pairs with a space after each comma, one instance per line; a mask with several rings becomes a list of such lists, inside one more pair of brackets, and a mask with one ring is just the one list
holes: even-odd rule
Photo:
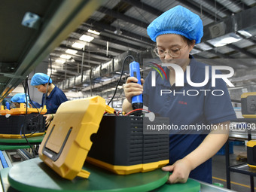
[[164, 166], [162, 170], [172, 172], [172, 175], [169, 175], [167, 183], [185, 183], [187, 182], [188, 175], [192, 170], [192, 166], [189, 161], [181, 159], [177, 160], [171, 166]]

